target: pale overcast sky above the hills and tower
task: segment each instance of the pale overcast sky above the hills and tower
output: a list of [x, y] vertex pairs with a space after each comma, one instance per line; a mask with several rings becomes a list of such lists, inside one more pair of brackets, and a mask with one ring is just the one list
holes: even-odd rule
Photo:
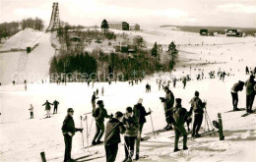
[[38, 17], [47, 26], [53, 2], [71, 25], [256, 27], [256, 0], [0, 0], [0, 23]]

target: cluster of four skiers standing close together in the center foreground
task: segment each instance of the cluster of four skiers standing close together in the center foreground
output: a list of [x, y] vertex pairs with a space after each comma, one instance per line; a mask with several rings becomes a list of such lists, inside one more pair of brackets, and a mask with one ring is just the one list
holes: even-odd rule
[[[139, 147], [143, 126], [146, 123], [146, 116], [151, 112], [146, 112], [142, 105], [143, 99], [140, 98], [138, 103], [134, 107], [127, 107], [126, 112], [116, 112], [113, 116], [108, 115], [104, 108], [102, 100], [97, 101], [97, 108], [93, 112], [93, 116], [96, 120], [96, 135], [92, 144], [96, 145], [101, 143], [100, 138], [105, 133], [104, 147], [106, 153], [106, 161], [115, 161], [118, 151], [118, 143], [121, 141], [120, 134], [124, 134], [124, 149], [125, 158], [123, 162], [132, 161], [135, 154], [135, 160], [139, 159]], [[104, 132], [104, 118], [110, 118], [106, 124], [106, 130]], [[136, 141], [136, 142], [135, 142]], [[134, 150], [136, 143], [136, 152]]]

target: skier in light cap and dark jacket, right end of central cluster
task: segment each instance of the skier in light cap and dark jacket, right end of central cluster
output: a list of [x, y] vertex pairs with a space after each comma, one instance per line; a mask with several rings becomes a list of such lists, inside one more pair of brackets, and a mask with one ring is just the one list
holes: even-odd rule
[[134, 107], [133, 107], [133, 113], [138, 118], [138, 122], [139, 122], [139, 130], [138, 130], [138, 135], [137, 135], [137, 139], [136, 139], [135, 160], [139, 159], [140, 141], [142, 139], [142, 137], [141, 137], [142, 130], [143, 130], [144, 124], [147, 122], [145, 117], [151, 114], [151, 111], [148, 113], [146, 112], [145, 107], [142, 105], [142, 102], [143, 102], [143, 99], [139, 98], [138, 103], [136, 105], [134, 105]]

